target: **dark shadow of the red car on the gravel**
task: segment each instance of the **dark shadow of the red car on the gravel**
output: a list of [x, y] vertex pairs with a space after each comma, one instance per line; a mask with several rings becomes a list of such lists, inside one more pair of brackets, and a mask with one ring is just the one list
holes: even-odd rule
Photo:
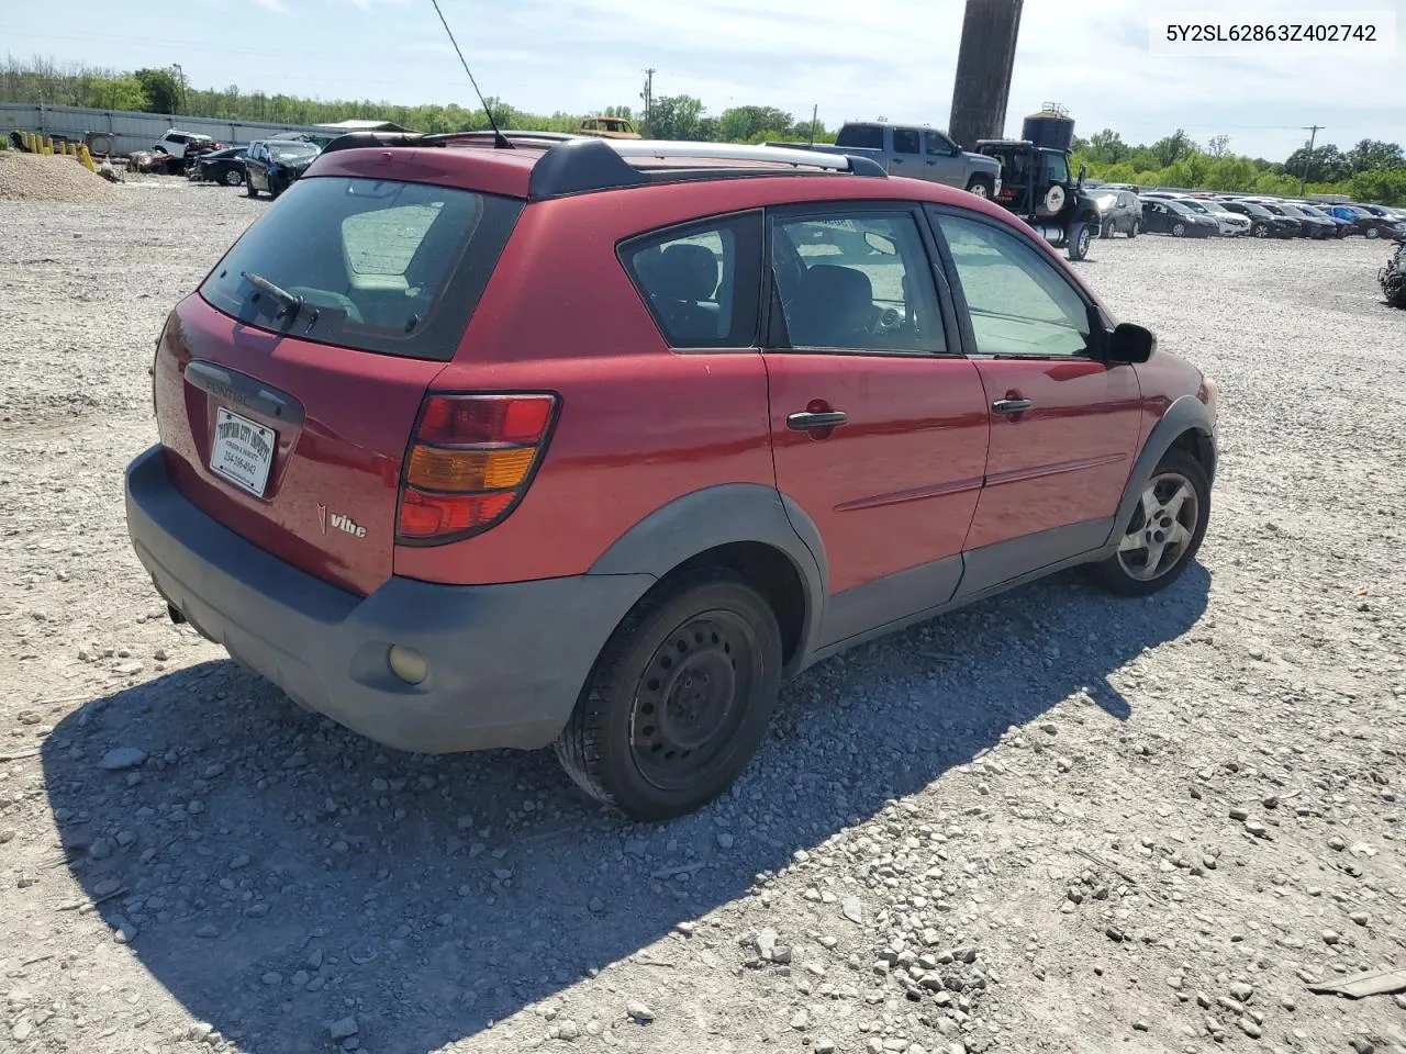
[[[75, 711], [45, 784], [72, 873], [197, 1020], [318, 1051], [350, 1013], [378, 1054], [426, 1054], [742, 897], [1071, 694], [1128, 721], [1109, 675], [1185, 634], [1209, 582], [1194, 565], [1115, 600], [1066, 573], [831, 659], [786, 687], [733, 791], [668, 825], [583, 802], [550, 752], [382, 749], [228, 661]], [[120, 749], [145, 760], [104, 767], [135, 760]]]

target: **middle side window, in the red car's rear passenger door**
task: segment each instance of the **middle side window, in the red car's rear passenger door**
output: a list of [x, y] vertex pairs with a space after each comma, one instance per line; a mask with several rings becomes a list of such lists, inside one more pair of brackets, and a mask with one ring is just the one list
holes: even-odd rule
[[912, 214], [782, 215], [772, 223], [772, 343], [946, 351], [936, 284]]

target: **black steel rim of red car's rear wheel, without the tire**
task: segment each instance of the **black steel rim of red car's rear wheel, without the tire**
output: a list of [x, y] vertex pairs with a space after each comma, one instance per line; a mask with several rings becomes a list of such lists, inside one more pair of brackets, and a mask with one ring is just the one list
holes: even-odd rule
[[751, 627], [731, 611], [707, 611], [655, 649], [630, 715], [636, 767], [659, 790], [685, 790], [717, 759], [741, 722], [761, 676]]

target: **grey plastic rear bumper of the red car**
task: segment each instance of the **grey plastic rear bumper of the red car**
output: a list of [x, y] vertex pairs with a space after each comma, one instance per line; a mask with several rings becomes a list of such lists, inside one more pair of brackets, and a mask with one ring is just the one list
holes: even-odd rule
[[[367, 597], [252, 545], [170, 482], [159, 445], [127, 469], [127, 524], [157, 592], [298, 703], [402, 750], [533, 749], [557, 738], [596, 655], [652, 575], [494, 586], [391, 578]], [[425, 656], [408, 684], [392, 644]]]

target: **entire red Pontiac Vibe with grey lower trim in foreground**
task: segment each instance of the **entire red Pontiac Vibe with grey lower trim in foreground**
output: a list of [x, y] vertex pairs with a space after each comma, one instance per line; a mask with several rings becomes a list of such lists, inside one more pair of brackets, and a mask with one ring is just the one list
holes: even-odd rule
[[159, 336], [136, 555], [302, 705], [554, 745], [662, 819], [820, 659], [1195, 558], [1216, 385], [993, 202], [825, 153], [491, 142], [330, 143]]

